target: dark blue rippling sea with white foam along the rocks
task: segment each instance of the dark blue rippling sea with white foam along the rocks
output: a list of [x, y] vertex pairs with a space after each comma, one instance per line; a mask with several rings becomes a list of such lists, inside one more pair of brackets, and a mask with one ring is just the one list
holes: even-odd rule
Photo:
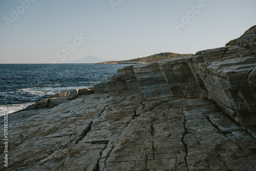
[[58, 92], [93, 87], [128, 65], [0, 64], [0, 116]]

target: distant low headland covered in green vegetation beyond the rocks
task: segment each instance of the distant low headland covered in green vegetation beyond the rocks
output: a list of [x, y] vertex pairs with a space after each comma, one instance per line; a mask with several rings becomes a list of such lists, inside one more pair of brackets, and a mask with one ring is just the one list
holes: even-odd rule
[[136, 59], [130, 59], [130, 60], [121, 60], [121, 61], [108, 61], [108, 62], [99, 62], [96, 64], [139, 64], [139, 63], [149, 63], [149, 62], [156, 62], [160, 60], [166, 60], [166, 59], [173, 59], [178, 57], [186, 57], [186, 56], [192, 56], [194, 54], [179, 54], [179, 53], [170, 53], [170, 52], [164, 52], [159, 53], [151, 56], [146, 57], [140, 57]]

